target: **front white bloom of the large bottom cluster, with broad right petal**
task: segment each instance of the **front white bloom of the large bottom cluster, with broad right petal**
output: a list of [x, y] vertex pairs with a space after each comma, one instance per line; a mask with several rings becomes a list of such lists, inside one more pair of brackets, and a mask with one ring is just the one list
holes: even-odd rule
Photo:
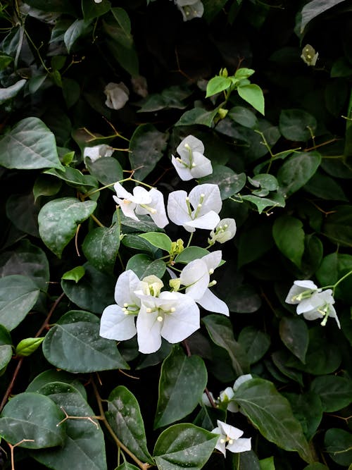
[[145, 287], [134, 292], [141, 301], [136, 324], [140, 352], [156, 352], [161, 347], [161, 338], [173, 344], [199, 329], [199, 307], [194, 299], [180, 292], [159, 292], [150, 284], [148, 292], [151, 293], [144, 292]]

